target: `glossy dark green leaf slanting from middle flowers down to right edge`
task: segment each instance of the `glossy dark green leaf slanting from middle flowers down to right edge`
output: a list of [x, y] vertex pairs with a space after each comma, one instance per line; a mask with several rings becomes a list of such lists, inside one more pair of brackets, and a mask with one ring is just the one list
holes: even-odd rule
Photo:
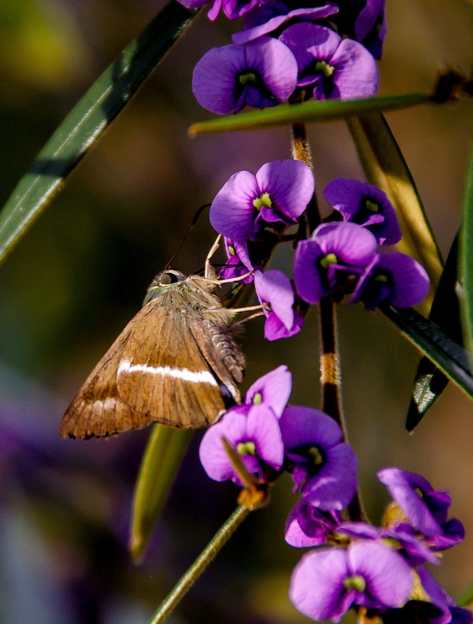
[[473, 398], [473, 377], [466, 349], [413, 308], [399, 310], [383, 306], [380, 309], [442, 373]]

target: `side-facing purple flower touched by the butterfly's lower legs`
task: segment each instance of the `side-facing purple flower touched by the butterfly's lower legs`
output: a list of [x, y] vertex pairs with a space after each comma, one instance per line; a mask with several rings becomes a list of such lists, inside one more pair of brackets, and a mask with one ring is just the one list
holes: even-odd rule
[[299, 312], [292, 309], [294, 290], [291, 280], [282, 271], [274, 269], [266, 273], [256, 271], [254, 288], [266, 314], [264, 338], [267, 340], [290, 338], [301, 331], [304, 319]]

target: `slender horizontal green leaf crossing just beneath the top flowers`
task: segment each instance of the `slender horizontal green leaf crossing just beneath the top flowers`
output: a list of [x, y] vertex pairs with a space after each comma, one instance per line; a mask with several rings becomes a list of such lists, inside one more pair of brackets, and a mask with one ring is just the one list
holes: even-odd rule
[[228, 117], [219, 117], [210, 121], [193, 124], [189, 135], [209, 132], [234, 132], [235, 130], [261, 130], [287, 124], [312, 124], [351, 115], [361, 115], [372, 110], [404, 109], [416, 104], [429, 102], [427, 93], [391, 95], [389, 97], [370, 97], [363, 100], [309, 100], [302, 104], [282, 104], [271, 109], [239, 113]]

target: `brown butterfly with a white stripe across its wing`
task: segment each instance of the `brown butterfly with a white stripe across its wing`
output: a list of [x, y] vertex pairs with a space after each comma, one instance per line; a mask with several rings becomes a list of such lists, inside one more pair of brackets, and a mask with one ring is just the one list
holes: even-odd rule
[[59, 435], [111, 436], [152, 422], [197, 429], [239, 402], [244, 357], [229, 332], [234, 311], [222, 308], [215, 287], [159, 273], [67, 408]]

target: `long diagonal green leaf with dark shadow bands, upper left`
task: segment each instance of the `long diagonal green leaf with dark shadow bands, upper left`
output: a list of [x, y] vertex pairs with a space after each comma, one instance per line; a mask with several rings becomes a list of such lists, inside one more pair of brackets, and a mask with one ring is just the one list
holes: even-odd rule
[[0, 262], [196, 14], [167, 4], [67, 115], [0, 212]]

